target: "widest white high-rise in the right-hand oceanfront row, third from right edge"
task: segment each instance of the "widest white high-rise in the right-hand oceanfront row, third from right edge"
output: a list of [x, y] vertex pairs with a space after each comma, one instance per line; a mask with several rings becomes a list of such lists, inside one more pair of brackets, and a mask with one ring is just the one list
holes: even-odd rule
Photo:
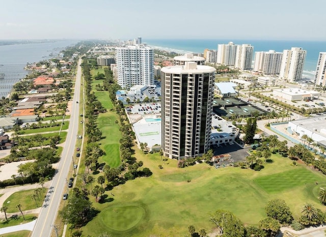
[[264, 75], [279, 74], [281, 70], [283, 53], [269, 50], [268, 52], [255, 52], [254, 71]]

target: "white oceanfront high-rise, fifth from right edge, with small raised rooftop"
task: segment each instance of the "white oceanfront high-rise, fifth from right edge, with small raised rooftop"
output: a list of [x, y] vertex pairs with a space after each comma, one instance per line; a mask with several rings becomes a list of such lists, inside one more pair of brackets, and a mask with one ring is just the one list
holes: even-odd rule
[[238, 45], [235, 45], [233, 42], [218, 44], [217, 63], [225, 66], [234, 66], [237, 47]]

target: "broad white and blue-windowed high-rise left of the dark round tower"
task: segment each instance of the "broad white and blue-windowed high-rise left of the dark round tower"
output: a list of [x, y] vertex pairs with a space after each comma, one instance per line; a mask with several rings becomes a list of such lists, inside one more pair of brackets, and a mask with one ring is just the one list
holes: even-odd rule
[[[141, 39], [138, 39], [141, 41]], [[152, 85], [154, 80], [154, 50], [146, 44], [116, 48], [118, 84], [129, 89], [133, 85]]]

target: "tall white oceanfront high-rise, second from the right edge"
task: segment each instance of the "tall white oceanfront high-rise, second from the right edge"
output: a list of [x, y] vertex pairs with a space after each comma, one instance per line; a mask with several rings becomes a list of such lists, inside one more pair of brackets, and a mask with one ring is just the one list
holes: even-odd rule
[[293, 82], [302, 78], [307, 51], [292, 47], [290, 50], [283, 50], [282, 64], [279, 78]]

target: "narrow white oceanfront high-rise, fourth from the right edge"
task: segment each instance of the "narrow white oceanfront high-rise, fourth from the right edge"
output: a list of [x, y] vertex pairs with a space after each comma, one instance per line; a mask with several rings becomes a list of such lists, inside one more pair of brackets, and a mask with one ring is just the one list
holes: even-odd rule
[[241, 70], [252, 68], [254, 47], [250, 44], [238, 45], [235, 57], [235, 67]]

